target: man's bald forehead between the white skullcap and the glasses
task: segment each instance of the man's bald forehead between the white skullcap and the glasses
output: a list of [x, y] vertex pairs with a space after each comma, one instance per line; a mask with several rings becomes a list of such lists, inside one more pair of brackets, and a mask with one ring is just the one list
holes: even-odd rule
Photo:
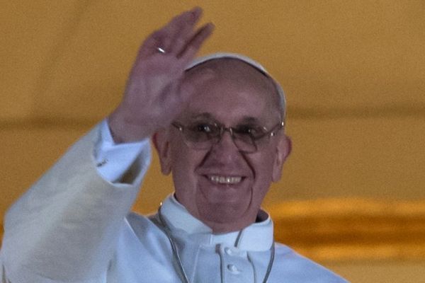
[[[202, 80], [205, 76], [208, 76], [206, 81]], [[279, 98], [273, 81], [238, 59], [204, 62], [186, 71], [184, 83], [191, 83], [196, 90], [183, 111], [186, 118], [209, 115], [223, 120], [220, 122], [235, 122], [276, 120], [280, 116]]]

